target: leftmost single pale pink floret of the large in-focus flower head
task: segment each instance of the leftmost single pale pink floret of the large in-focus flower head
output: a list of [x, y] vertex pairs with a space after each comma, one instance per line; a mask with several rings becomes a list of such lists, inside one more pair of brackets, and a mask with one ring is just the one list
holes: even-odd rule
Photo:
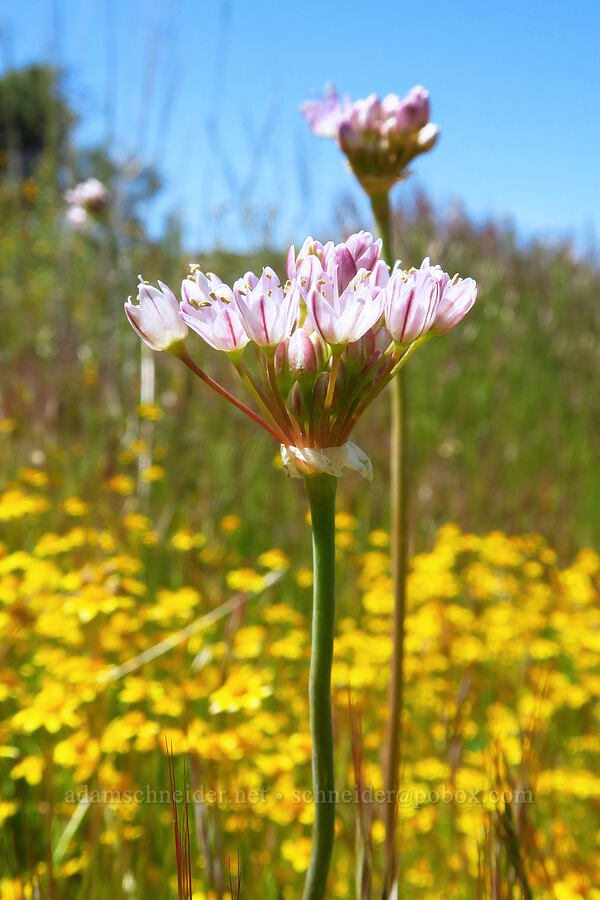
[[153, 350], [168, 350], [185, 340], [187, 325], [179, 315], [179, 301], [173, 291], [162, 281], [158, 284], [160, 287], [155, 288], [140, 282], [139, 306], [127, 300], [125, 313], [145, 344]]

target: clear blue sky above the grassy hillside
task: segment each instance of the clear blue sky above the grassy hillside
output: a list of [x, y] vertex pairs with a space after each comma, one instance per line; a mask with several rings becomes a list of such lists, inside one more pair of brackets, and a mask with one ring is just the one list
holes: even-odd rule
[[[58, 61], [81, 144], [165, 180], [190, 247], [327, 237], [360, 189], [299, 104], [333, 82], [353, 97], [423, 84], [442, 137], [413, 186], [523, 236], [600, 233], [597, 0], [27, 0], [1, 14], [0, 65]], [[410, 188], [396, 188], [397, 198]]]

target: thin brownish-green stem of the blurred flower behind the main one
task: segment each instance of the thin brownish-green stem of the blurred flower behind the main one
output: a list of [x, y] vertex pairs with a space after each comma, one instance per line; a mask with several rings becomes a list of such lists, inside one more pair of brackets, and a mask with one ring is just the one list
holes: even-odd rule
[[[383, 241], [382, 256], [394, 264], [392, 246], [392, 212], [389, 193], [371, 198], [373, 216]], [[400, 371], [392, 382], [392, 434], [390, 447], [390, 494], [392, 575], [394, 582], [394, 621], [392, 628], [392, 661], [389, 685], [389, 718], [383, 787], [386, 791], [385, 824], [385, 896], [394, 880], [396, 836], [396, 797], [402, 759], [402, 707], [404, 703], [404, 632], [406, 618], [406, 576], [408, 573], [408, 415], [406, 375]]]

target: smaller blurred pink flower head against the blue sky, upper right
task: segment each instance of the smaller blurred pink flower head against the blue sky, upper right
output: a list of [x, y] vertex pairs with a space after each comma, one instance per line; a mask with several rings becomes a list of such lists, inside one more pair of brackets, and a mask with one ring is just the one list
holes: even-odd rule
[[431, 150], [439, 136], [429, 121], [429, 92], [420, 85], [406, 97], [370, 94], [355, 101], [330, 88], [323, 100], [309, 100], [301, 110], [315, 134], [337, 141], [369, 196], [406, 178], [411, 160]]

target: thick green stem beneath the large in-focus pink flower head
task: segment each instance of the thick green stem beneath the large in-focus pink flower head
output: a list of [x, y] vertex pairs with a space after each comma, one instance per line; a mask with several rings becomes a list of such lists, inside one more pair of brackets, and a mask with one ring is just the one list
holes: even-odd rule
[[333, 848], [335, 779], [331, 720], [331, 663], [335, 620], [335, 492], [332, 475], [307, 475], [313, 532], [313, 626], [310, 728], [315, 804], [313, 843], [302, 900], [323, 900]]

